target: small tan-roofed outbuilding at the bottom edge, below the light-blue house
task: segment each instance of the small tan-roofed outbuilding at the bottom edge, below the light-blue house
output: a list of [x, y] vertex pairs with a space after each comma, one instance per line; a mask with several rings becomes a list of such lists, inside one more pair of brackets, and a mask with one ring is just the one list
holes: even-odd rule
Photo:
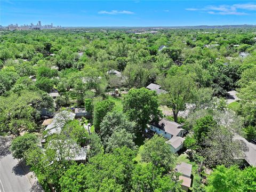
[[179, 176], [179, 180], [182, 180], [181, 188], [185, 191], [188, 191], [188, 188], [191, 187], [191, 172], [192, 172], [192, 165], [181, 162], [175, 167], [175, 171], [181, 173]]

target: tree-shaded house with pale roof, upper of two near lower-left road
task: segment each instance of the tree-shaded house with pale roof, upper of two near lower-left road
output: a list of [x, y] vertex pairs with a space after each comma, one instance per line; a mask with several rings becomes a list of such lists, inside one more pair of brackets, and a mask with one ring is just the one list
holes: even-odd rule
[[73, 120], [74, 118], [75, 114], [67, 110], [63, 110], [55, 114], [51, 124], [47, 125], [47, 127], [45, 128], [45, 131], [47, 131], [47, 135], [51, 135], [53, 133], [60, 133], [63, 126], [68, 121]]

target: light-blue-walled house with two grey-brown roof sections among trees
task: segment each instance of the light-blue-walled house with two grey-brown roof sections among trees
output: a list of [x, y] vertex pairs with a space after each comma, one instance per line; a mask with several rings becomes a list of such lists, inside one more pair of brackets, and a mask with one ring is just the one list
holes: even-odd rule
[[170, 145], [173, 153], [177, 153], [183, 148], [183, 142], [185, 139], [182, 137], [185, 130], [182, 129], [181, 124], [163, 118], [158, 123], [151, 123], [149, 125], [149, 129], [150, 131], [169, 139], [166, 143]]

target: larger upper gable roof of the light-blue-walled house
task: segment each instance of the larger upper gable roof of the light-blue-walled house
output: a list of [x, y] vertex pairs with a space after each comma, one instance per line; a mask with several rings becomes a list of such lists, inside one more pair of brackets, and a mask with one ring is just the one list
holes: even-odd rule
[[179, 132], [183, 130], [181, 128], [183, 125], [169, 121], [165, 118], [162, 118], [158, 123], [151, 123], [151, 125], [158, 127], [159, 129], [162, 129], [166, 133], [170, 133], [173, 136], [177, 136]]

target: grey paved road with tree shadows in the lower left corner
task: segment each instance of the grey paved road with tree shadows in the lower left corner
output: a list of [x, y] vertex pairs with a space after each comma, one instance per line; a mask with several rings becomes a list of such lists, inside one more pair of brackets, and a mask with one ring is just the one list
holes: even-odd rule
[[9, 151], [11, 138], [0, 137], [0, 192], [29, 192], [43, 191], [33, 173], [25, 170]]

